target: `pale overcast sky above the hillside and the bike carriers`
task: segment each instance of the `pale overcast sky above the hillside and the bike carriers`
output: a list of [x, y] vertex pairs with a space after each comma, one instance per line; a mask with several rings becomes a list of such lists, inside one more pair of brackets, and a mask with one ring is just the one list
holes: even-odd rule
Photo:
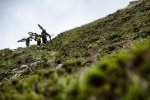
[[[105, 17], [131, 0], [0, 0], [0, 49], [17, 48], [28, 32], [59, 33]], [[34, 42], [33, 42], [34, 43]]]

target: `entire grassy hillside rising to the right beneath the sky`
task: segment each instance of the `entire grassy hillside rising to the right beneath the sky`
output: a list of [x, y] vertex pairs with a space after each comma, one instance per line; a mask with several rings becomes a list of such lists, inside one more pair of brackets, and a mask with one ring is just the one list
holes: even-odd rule
[[0, 51], [0, 100], [150, 99], [149, 0], [52, 41]]

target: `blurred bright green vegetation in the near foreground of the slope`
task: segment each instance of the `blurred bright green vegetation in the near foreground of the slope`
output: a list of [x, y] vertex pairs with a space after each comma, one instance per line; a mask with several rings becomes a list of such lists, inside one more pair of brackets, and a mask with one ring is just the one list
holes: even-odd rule
[[[70, 73], [66, 66], [37, 71], [36, 66], [36, 72], [27, 78], [3, 81], [0, 99], [149, 100], [149, 39], [136, 42], [129, 51], [105, 57], [83, 72]], [[67, 67], [78, 70], [80, 64]]]

